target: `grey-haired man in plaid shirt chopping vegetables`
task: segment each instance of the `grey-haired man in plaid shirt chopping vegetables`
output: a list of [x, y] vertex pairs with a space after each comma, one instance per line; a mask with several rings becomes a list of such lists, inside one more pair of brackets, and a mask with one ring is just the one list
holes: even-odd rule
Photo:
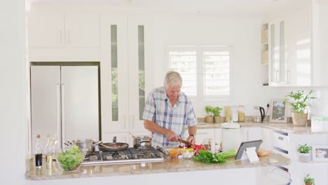
[[189, 98], [180, 92], [182, 78], [170, 71], [164, 79], [164, 87], [156, 88], [149, 94], [144, 107], [144, 128], [151, 131], [152, 146], [177, 146], [184, 138], [188, 126], [187, 141], [195, 144], [197, 118]]

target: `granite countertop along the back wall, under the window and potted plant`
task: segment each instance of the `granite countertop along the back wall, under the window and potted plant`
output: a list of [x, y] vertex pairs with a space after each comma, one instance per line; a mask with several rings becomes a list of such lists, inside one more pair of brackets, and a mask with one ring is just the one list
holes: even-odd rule
[[[287, 132], [295, 135], [316, 135], [316, 134], [328, 134], [328, 132], [312, 132], [310, 126], [296, 126], [292, 123], [253, 123], [253, 122], [240, 122], [241, 127], [261, 127], [269, 128], [280, 132]], [[221, 128], [222, 123], [198, 123], [198, 129], [207, 128]]]

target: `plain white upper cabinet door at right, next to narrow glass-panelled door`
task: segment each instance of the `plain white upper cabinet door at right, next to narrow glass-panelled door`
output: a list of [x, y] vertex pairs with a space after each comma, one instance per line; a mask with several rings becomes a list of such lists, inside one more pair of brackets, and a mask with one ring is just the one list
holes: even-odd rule
[[301, 8], [285, 18], [287, 85], [312, 85], [311, 8]]

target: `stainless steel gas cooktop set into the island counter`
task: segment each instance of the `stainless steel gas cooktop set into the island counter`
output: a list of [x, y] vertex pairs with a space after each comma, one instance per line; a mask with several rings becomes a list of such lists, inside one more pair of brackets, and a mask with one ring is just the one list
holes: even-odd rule
[[153, 147], [144, 149], [129, 148], [118, 152], [95, 151], [92, 155], [84, 158], [82, 165], [145, 163], [161, 162], [163, 160], [164, 158], [160, 156], [160, 152]]

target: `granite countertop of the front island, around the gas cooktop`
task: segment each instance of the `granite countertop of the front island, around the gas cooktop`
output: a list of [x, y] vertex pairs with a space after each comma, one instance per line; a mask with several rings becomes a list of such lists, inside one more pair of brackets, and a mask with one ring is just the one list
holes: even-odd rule
[[[224, 164], [207, 165], [196, 162], [193, 159], [165, 158], [163, 162], [157, 163], [134, 163], [134, 164], [111, 164], [111, 165], [90, 165], [81, 166], [76, 172], [62, 172], [53, 161], [53, 168], [46, 169], [43, 165], [38, 170], [34, 167], [33, 160], [27, 160], [26, 179], [46, 180], [46, 179], [71, 179], [83, 177], [110, 177], [118, 175], [133, 174], [153, 174], [167, 172], [191, 172], [200, 170], [224, 170], [238, 169], [247, 167], [266, 167], [275, 165], [288, 165], [289, 158], [278, 156], [275, 153], [259, 158], [259, 163], [250, 163], [248, 160], [234, 160], [228, 158]], [[43, 161], [44, 162], [44, 161]]]

